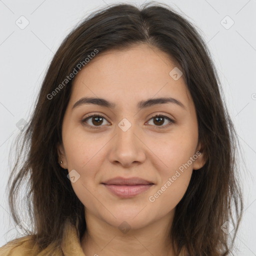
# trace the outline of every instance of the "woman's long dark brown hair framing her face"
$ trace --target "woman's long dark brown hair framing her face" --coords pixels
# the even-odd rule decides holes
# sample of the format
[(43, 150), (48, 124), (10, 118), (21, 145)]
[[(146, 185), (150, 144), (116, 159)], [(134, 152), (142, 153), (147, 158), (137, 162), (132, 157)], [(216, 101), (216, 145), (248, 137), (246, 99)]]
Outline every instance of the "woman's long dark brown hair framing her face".
[[(167, 53), (183, 72), (196, 109), (198, 142), (207, 159), (202, 168), (192, 172), (189, 186), (176, 205), (170, 233), (175, 255), (182, 251), (190, 256), (228, 255), (243, 208), (237, 135), (206, 43), (190, 22), (158, 2), (141, 8), (131, 4), (101, 8), (63, 40), (48, 67), (31, 119), (18, 137), (16, 161), (8, 180), (13, 219), (20, 222), (16, 197), (27, 178), (25, 200), (32, 221), (27, 234), (32, 234), (41, 249), (52, 242), (60, 244), (63, 223), (69, 218), (81, 238), (86, 229), (84, 206), (72, 189), (67, 169), (58, 163), (57, 145), (62, 143), (62, 119), (73, 78), (64, 85), (63, 81), (74, 70), (78, 72), (77, 65), (95, 49), (100, 55), (140, 43)], [(61, 90), (56, 91), (61, 83)], [(54, 90), (54, 96), (49, 97)], [(234, 226), (229, 234), (221, 230), (227, 220)]]

